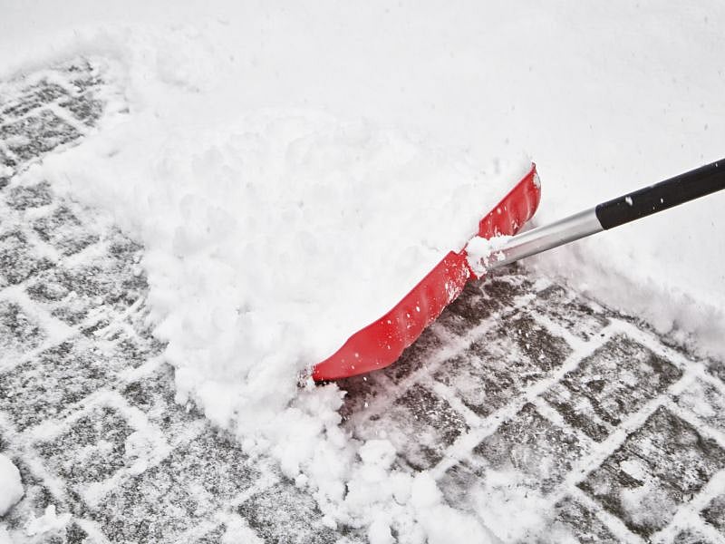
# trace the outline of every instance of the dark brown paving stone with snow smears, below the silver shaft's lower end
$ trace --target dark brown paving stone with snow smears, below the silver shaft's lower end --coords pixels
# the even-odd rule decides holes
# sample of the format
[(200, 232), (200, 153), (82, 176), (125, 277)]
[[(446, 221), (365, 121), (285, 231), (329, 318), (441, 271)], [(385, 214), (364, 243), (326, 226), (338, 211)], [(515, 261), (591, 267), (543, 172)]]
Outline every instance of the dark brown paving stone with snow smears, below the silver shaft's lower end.
[(445, 361), (434, 377), (485, 417), (561, 366), (571, 351), (564, 339), (523, 312)]

